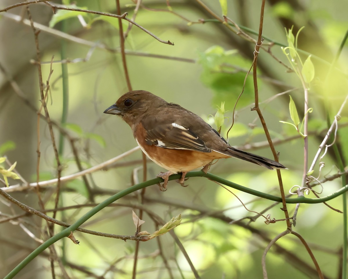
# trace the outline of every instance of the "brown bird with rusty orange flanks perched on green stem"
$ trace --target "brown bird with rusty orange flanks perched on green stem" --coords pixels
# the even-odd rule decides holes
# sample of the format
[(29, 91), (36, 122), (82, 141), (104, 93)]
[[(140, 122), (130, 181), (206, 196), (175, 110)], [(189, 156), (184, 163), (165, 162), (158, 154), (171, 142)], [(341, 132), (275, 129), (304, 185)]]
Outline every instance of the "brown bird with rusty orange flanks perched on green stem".
[(141, 150), (167, 170), (157, 175), (164, 180), (159, 183), (162, 191), (167, 190), (170, 175), (182, 173), (178, 182), (185, 187), (189, 171), (203, 167), (207, 173), (214, 159), (235, 157), (268, 169), (286, 169), (274, 160), (232, 147), (197, 114), (148, 91), (129, 91), (104, 113), (121, 116)]

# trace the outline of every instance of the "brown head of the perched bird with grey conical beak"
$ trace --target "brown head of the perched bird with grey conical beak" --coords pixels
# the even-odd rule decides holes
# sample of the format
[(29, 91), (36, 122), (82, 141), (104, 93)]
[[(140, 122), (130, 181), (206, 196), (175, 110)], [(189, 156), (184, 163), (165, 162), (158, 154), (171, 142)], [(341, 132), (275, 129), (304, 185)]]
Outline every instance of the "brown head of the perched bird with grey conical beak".
[(134, 90), (122, 95), (104, 113), (120, 115), (129, 126), (132, 126), (139, 117), (151, 111), (151, 108), (156, 108), (166, 103), (165, 100), (148, 91)]

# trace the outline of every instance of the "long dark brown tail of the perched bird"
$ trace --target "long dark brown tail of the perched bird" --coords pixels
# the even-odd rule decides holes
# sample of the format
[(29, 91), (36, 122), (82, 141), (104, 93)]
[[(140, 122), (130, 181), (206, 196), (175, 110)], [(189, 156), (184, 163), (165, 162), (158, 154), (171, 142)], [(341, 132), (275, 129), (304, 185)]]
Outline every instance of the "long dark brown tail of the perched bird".
[(226, 152), (224, 152), (226, 155), (231, 156), (231, 157), (235, 157), (235, 158), (239, 158), (254, 164), (258, 164), (260, 166), (263, 166), (265, 168), (268, 169), (275, 169), (275, 168), (279, 168), (279, 169), (287, 169), (286, 167), (284, 167), (282, 164), (279, 164), (278, 162), (256, 155), (256, 154), (252, 154), (240, 149), (236, 149), (233, 147), (230, 147), (229, 149), (226, 150)]

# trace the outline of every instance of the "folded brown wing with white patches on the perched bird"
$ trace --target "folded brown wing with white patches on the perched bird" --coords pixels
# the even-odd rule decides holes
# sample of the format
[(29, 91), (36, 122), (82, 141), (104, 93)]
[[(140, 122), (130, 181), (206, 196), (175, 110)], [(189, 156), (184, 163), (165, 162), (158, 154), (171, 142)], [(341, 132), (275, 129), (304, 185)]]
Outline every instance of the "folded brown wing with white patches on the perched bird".
[(145, 141), (148, 145), (170, 149), (211, 152), (211, 149), (207, 148), (204, 141), (197, 134), (175, 122), (156, 125), (151, 128), (144, 125), (144, 128), (147, 131)]

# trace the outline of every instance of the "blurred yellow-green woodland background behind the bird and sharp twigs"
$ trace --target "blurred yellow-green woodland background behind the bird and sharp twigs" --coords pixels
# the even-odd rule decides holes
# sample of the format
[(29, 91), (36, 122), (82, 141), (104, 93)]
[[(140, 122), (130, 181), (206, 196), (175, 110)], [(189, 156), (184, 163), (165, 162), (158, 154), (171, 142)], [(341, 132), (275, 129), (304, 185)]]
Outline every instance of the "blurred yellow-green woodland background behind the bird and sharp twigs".
[[(222, 1), (223, 2), (223, 1)], [(1, 1), (0, 9), (16, 1)], [(77, 7), (116, 14), (116, 2), (75, 1)], [(212, 116), (217, 106), (225, 102), (227, 110), (222, 136), (226, 137), (232, 123), (232, 111), (242, 91), (246, 72), (249, 70), (255, 44), (231, 32), (219, 22), (199, 23), (200, 19), (213, 19), (209, 11), (221, 18), (220, 2), (205, 1), (208, 10), (200, 1), (148, 1), (141, 2), (135, 22), (163, 40), (174, 42), (174, 46), (163, 44), (133, 26), (126, 38), (127, 66), (134, 90), (147, 90), (168, 102), (180, 104), (198, 114), (214, 126)], [(120, 1), (121, 13), (128, 12), (132, 18), (135, 3)], [(170, 5), (172, 11), (168, 8)], [(33, 21), (49, 26), (52, 9), (45, 3), (30, 5)], [(258, 32), (261, 1), (227, 1), (227, 15), (237, 24)], [(279, 161), (289, 168), (282, 171), (285, 193), (294, 185), (300, 185), (303, 173), (303, 140), (296, 136), (296, 130), (279, 120), (291, 122), (289, 113), (290, 94), (295, 100), (300, 119), (303, 118), (303, 89), (299, 78), (289, 73), (279, 61), (290, 66), (277, 43), (287, 45), (285, 29), (294, 25), (294, 34), (304, 26), (299, 35), (298, 47), (312, 54), (315, 79), (309, 92), (309, 107), (313, 108), (309, 121), (309, 163), (326, 133), (326, 116), (331, 119), (337, 113), (347, 95), (347, 49), (339, 56), (333, 71), (327, 76), (330, 63), (337, 53), (347, 30), (347, 2), (334, 1), (266, 1), (264, 10), (263, 36), (276, 42), (272, 47), (264, 41), (265, 49), (260, 50), (258, 59), (258, 86), (260, 108), (272, 138), (282, 144), (276, 145)], [(62, 11), (60, 11), (62, 12)], [(9, 16), (10, 14), (10, 16)], [(14, 79), (23, 91), (24, 97), (37, 109), (40, 106), (35, 43), (32, 29), (10, 18), (12, 14), (27, 18), (23, 6), (0, 13), (0, 147), (1, 156), (6, 155), (11, 163), (17, 161), (17, 171), (29, 182), (36, 181), (37, 163), (37, 114), (19, 97), (9, 80)], [(58, 14), (59, 16), (60, 14)], [(47, 107), (50, 118), (60, 123), (63, 110), (63, 83), (68, 82), (69, 97), (66, 123), (62, 127), (76, 145), (82, 168), (100, 164), (136, 146), (131, 129), (120, 118), (103, 114), (121, 95), (128, 91), (119, 52), (119, 30), (116, 18), (95, 20), (97, 15), (84, 14), (86, 27), (76, 15), (57, 22), (48, 33), (41, 29), (39, 44), (41, 61), (61, 60), (62, 46), (66, 47), (65, 58), (87, 61), (67, 63), (66, 76), (62, 77), (62, 64), (53, 64)], [(187, 20), (185, 20), (187, 19)], [(122, 21), (124, 31), (128, 22)], [(62, 30), (72, 35), (62, 39)], [(256, 39), (257, 35), (249, 33)], [(79, 43), (78, 38), (95, 46)], [(267, 50), (271, 53), (267, 53)], [(88, 54), (89, 53), (89, 54)], [(88, 54), (88, 55), (87, 55)], [(301, 54), (303, 61), (308, 54)], [(87, 55), (87, 56), (86, 56)], [(156, 56), (157, 57), (153, 57)], [(158, 56), (162, 55), (162, 56)], [(275, 59), (275, 58), (276, 59)], [(64, 58), (64, 57), (63, 57)], [(183, 59), (185, 59), (183, 61)], [(42, 65), (44, 83), (50, 70), (49, 63)], [(338, 74), (337, 74), (338, 73)], [(68, 79), (67, 79), (68, 77)], [(290, 93), (279, 94), (290, 90)], [(272, 96), (276, 98), (271, 98)], [(67, 99), (65, 99), (67, 100)], [(252, 74), (246, 80), (245, 90), (236, 107), (235, 125), (229, 133), (229, 143), (248, 150), (254, 143), (266, 141), (262, 125), (255, 111)], [(42, 112), (43, 113), (43, 112)], [(343, 109), (338, 143), (341, 155), (347, 159), (347, 107)], [(323, 131), (323, 133), (321, 133)], [(59, 131), (54, 129), (56, 142)], [(44, 120), (40, 121), (40, 181), (56, 177), (56, 161), (50, 140), (49, 129)], [(251, 145), (250, 145), (251, 144)], [(267, 144), (263, 148), (253, 147), (251, 152), (272, 158)], [(95, 203), (101, 202), (112, 193), (142, 181), (141, 152), (136, 151), (108, 171), (89, 174), (87, 180), (92, 188)], [(134, 162), (133, 162), (134, 161)], [(334, 153), (329, 150), (324, 175), (338, 172)], [(78, 171), (69, 138), (64, 139), (61, 155), (62, 175)], [(6, 167), (8, 168), (8, 167)], [(318, 166), (315, 177), (319, 175)], [(148, 162), (148, 179), (163, 171)], [(279, 194), (276, 172), (263, 169), (237, 159), (219, 160), (210, 169), (215, 175), (245, 187)], [(18, 181), (11, 180), (10, 184)], [(169, 221), (182, 214), (183, 221), (175, 228), (193, 266), (203, 279), (210, 278), (262, 278), (261, 257), (264, 248), (277, 234), (286, 229), (285, 221), (266, 225), (264, 218), (255, 222), (240, 201), (226, 189), (204, 178), (190, 178), (187, 188), (169, 182), (168, 190), (160, 192), (156, 185), (148, 187), (143, 204), (140, 193), (133, 193), (120, 199), (113, 206), (105, 208), (83, 227), (104, 233), (132, 235), (135, 228), (132, 209), (139, 212), (139, 205)], [(59, 207), (88, 204), (89, 198), (82, 179), (62, 183)], [(324, 184), (321, 196), (328, 195), (342, 187), (340, 179)], [(319, 187), (318, 187), (319, 188)], [(41, 190), (45, 208), (54, 208), (55, 185)], [(273, 202), (255, 198), (249, 194), (231, 189), (249, 210), (260, 212)], [(319, 190), (318, 190), (319, 191)], [(19, 201), (39, 209), (34, 190), (10, 193)], [(315, 197), (310, 194), (309, 197)], [(1, 218), (23, 213), (15, 205), (1, 198)], [(122, 206), (117, 206), (117, 203)], [(342, 210), (342, 198), (329, 202)], [(127, 205), (127, 206), (126, 206)], [(266, 214), (271, 218), (283, 219), (284, 213), (276, 205)], [(292, 216), (295, 205), (288, 205)], [(89, 207), (62, 210), (56, 218), (73, 223)], [(52, 215), (51, 213), (47, 213)], [(325, 278), (341, 277), (341, 249), (343, 245), (343, 215), (324, 204), (301, 204), (294, 230), (309, 243)], [(144, 213), (142, 230), (156, 231), (156, 222), (151, 214)], [(238, 220), (229, 224), (233, 220)], [(5, 276), (19, 261), (35, 249), (39, 243), (23, 231), (27, 227), (38, 239), (47, 239), (46, 223), (36, 216), (1, 222), (0, 219), (0, 275)], [(161, 226), (161, 225), (160, 225)], [(61, 230), (55, 225), (55, 232)], [(74, 233), (81, 242), (73, 244), (61, 240), (55, 244), (61, 265), (70, 278), (132, 278), (134, 264), (134, 241), (121, 241), (80, 232)], [(169, 234), (139, 245), (136, 278), (194, 278), (187, 260)], [(159, 248), (160, 247), (160, 248)], [(51, 278), (49, 251), (30, 263), (16, 278)], [(67, 278), (55, 262), (56, 278)], [(277, 241), (267, 255), (268, 278), (318, 278), (314, 265), (300, 241), (287, 235)], [(168, 271), (168, 267), (169, 270)], [(63, 273), (63, 275), (62, 275)], [(100, 277), (98, 277), (100, 276)], [(68, 278), (69, 278), (68, 277)]]

